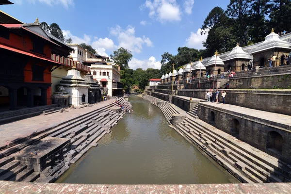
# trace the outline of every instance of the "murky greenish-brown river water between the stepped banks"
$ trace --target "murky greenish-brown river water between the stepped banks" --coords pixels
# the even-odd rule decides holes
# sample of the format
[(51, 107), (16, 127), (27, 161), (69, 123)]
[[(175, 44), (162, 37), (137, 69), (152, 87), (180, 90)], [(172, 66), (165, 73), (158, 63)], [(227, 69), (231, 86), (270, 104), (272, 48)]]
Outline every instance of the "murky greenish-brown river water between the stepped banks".
[(175, 129), (161, 110), (131, 95), (134, 113), (124, 116), (57, 183), (204, 184), (238, 182)]

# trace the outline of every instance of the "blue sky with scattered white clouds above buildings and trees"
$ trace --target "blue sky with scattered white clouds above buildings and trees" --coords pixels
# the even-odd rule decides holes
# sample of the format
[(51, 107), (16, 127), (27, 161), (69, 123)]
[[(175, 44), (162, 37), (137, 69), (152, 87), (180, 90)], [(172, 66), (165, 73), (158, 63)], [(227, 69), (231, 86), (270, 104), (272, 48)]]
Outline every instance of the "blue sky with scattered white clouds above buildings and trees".
[(22, 22), (59, 24), (73, 43), (91, 44), (99, 54), (131, 50), (130, 68), (160, 68), (161, 55), (178, 47), (203, 49), (205, 17), (229, 0), (11, 0), (0, 9)]

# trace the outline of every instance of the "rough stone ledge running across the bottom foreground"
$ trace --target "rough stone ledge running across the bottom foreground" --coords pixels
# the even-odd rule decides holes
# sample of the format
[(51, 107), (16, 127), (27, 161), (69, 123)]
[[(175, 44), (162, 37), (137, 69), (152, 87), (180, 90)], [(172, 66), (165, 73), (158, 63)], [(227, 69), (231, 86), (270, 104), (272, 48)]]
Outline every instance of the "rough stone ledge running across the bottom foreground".
[(290, 194), (291, 183), (192, 185), (92, 185), (0, 181), (5, 194)]

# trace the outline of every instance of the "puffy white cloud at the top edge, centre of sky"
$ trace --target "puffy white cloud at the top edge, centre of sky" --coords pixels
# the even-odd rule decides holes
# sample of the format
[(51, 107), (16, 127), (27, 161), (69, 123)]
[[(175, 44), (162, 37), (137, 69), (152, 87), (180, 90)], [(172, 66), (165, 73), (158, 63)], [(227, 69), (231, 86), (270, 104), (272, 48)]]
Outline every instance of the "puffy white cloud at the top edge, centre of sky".
[(176, 0), (146, 0), (141, 9), (148, 8), (151, 18), (157, 18), (160, 22), (180, 21), (181, 11)]

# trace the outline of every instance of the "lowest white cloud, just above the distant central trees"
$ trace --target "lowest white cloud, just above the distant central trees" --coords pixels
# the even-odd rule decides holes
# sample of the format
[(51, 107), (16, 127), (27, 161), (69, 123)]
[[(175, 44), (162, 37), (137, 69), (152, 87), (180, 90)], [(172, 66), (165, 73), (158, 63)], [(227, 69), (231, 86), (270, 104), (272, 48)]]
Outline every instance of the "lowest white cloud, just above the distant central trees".
[(136, 58), (132, 58), (132, 60), (129, 62), (129, 67), (134, 70), (137, 68), (142, 68), (145, 70), (147, 68), (160, 69), (161, 62), (156, 61), (155, 57), (150, 57), (149, 59), (146, 59), (146, 60), (138, 60)]

